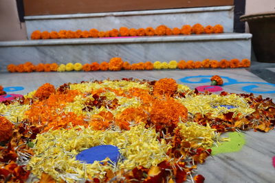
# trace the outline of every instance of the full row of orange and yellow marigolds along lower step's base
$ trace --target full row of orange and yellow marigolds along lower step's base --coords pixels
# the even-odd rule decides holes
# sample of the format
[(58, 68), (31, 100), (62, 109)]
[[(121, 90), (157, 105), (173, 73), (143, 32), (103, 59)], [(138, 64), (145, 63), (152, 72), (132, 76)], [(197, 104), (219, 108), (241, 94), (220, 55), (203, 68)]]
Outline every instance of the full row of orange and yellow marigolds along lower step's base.
[(32, 62), (25, 62), (25, 64), (9, 64), (7, 70), (11, 73), (30, 73), (30, 72), (64, 72), (64, 71), (121, 71), (121, 70), (153, 70), (153, 69), (226, 69), (226, 68), (241, 68), (249, 67), (250, 60), (248, 59), (232, 59), (232, 60), (210, 60), (206, 59), (203, 61), (193, 60), (171, 60), (170, 62), (139, 62), (130, 64), (129, 62), (124, 62), (122, 58), (111, 58), (109, 62), (92, 62), (91, 64), (81, 64), (79, 62), (73, 64), (71, 62), (67, 64), (37, 64), (34, 65)]

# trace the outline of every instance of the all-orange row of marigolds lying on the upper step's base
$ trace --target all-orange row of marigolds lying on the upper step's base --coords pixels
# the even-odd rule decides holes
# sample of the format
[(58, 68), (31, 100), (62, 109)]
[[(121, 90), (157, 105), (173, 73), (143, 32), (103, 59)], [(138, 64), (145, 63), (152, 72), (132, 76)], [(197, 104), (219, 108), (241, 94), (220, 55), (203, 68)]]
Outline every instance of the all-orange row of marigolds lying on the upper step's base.
[(188, 34), (217, 34), (223, 33), (222, 25), (208, 25), (203, 27), (203, 25), (197, 23), (193, 26), (183, 25), (181, 29), (174, 27), (170, 29), (166, 25), (159, 25), (155, 29), (153, 27), (147, 27), (146, 29), (134, 29), (127, 27), (120, 27), (120, 29), (111, 29), (109, 31), (98, 31), (98, 29), (90, 29), (89, 31), (77, 30), (76, 32), (72, 30), (61, 30), (59, 32), (40, 32), (36, 30), (32, 32), (31, 38), (33, 40), (38, 39), (58, 39), (58, 38), (105, 38), (105, 37), (118, 37), (118, 36), (170, 36), (170, 35), (188, 35)]

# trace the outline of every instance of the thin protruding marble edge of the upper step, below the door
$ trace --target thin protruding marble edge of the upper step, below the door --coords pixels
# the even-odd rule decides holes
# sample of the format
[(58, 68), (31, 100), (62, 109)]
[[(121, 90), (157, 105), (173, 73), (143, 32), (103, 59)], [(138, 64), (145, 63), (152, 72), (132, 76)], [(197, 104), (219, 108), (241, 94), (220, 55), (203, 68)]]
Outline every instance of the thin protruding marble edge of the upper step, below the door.
[(58, 15), (41, 15), (41, 16), (25, 16), (26, 21), (46, 20), (46, 19), (79, 19), (92, 18), (102, 16), (135, 16), (135, 15), (149, 15), (149, 14), (178, 14), (178, 13), (192, 13), (192, 12), (217, 12), (217, 11), (232, 11), (233, 5), (212, 6), (203, 8), (179, 8), (168, 10), (141, 10), (129, 12), (104, 12), (104, 13), (90, 13), (90, 14), (58, 14)]

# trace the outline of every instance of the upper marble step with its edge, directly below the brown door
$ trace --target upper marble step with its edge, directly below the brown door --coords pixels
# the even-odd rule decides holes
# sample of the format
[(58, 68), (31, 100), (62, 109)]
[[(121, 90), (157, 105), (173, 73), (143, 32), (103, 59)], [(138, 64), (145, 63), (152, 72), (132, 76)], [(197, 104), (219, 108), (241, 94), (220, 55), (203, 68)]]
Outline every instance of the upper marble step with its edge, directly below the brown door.
[(196, 23), (201, 23), (203, 26), (221, 24), (224, 32), (233, 32), (234, 6), (25, 16), (25, 23), (28, 38), (37, 29), (51, 32), (61, 29), (76, 31), (96, 28), (99, 31), (107, 31), (120, 27), (155, 28), (158, 25), (180, 28), (182, 25)]

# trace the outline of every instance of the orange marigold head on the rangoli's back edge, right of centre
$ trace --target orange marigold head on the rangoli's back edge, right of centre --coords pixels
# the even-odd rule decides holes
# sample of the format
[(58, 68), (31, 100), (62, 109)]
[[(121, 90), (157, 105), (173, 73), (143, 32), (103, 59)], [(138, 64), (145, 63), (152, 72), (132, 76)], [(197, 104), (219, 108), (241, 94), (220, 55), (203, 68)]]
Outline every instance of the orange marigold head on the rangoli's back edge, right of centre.
[(177, 91), (177, 82), (171, 78), (164, 78), (155, 82), (154, 95), (173, 95)]

